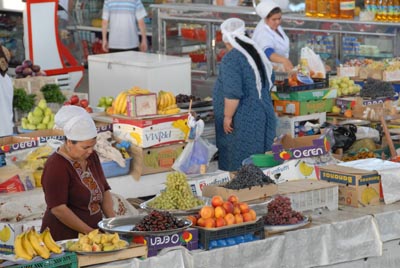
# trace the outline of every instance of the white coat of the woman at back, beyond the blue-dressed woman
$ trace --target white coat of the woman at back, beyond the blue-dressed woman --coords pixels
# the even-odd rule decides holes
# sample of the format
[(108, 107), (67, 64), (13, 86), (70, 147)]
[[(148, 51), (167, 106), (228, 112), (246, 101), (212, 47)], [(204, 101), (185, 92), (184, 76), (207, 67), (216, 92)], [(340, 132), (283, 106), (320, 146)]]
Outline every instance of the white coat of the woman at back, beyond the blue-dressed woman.
[(282, 36), (272, 30), (262, 19), (257, 24), (252, 39), (263, 51), (272, 48), (278, 55), (289, 58), (289, 38), (281, 26), (278, 26), (278, 31)]

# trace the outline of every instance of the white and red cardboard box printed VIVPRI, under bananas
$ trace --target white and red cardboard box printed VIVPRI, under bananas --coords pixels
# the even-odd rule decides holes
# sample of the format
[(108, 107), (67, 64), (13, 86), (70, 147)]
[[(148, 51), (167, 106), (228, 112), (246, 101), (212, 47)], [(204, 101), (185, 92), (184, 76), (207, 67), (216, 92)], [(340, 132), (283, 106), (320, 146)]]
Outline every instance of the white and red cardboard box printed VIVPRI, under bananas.
[(187, 117), (187, 113), (136, 118), (115, 116), (113, 132), (119, 139), (142, 148), (183, 142), (189, 132)]

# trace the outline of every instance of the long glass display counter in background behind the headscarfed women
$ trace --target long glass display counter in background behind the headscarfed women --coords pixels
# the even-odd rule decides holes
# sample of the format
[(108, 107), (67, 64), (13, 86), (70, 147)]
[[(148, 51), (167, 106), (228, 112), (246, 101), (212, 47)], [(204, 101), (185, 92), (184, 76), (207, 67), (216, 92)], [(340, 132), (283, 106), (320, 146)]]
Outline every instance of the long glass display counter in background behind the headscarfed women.
[[(260, 20), (251, 6), (154, 4), (151, 8), (153, 52), (191, 57), (192, 92), (199, 96), (210, 95), (225, 51), (220, 24), (227, 18), (239, 17), (246, 22), (251, 36)], [(289, 57), (294, 65), (299, 63), (301, 48), (305, 46), (320, 54), (333, 71), (349, 59), (400, 55), (400, 25), (396, 23), (318, 19), (284, 13), (282, 27), (291, 41)]]

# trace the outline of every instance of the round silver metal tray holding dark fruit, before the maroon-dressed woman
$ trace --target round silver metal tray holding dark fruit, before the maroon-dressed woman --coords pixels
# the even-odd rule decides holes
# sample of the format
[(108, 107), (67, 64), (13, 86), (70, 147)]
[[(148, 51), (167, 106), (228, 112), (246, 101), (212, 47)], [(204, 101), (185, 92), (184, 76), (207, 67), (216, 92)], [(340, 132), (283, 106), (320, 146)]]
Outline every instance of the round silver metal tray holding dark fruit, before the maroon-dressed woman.
[(105, 232), (118, 233), (123, 235), (131, 236), (160, 236), (160, 235), (170, 235), (179, 233), (190, 226), (192, 222), (187, 219), (181, 219), (184, 226), (176, 229), (162, 230), (162, 231), (135, 231), (134, 228), (136, 224), (139, 224), (143, 219), (143, 216), (125, 216), (125, 217), (115, 217), (108, 218), (100, 221), (98, 226)]

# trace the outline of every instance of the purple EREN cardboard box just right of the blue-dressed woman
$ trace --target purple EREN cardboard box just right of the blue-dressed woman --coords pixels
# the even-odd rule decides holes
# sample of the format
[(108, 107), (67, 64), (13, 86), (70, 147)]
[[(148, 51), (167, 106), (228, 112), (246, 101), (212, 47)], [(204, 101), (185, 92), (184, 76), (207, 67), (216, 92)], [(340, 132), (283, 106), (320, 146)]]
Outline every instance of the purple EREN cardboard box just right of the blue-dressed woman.
[(283, 135), (272, 144), (272, 153), (278, 161), (320, 156), (327, 154), (330, 150), (330, 137), (328, 135), (310, 135), (297, 138)]

